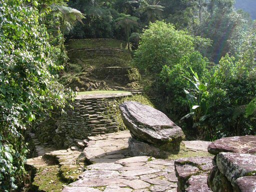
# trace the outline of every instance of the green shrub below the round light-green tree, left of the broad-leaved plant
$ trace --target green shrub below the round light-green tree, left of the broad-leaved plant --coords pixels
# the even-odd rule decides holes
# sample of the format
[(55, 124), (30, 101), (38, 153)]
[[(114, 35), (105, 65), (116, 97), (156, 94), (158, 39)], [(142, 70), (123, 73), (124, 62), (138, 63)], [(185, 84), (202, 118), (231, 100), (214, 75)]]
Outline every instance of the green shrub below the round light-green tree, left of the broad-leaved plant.
[[(163, 66), (159, 74), (158, 92), (161, 93), (163, 100), (168, 102), (164, 103), (165, 110), (172, 114), (172, 117), (179, 118), (187, 112), (187, 100), (183, 89), (190, 87), (187, 78), (193, 78), (193, 70), (198, 71), (198, 75), (207, 76), (206, 66), (208, 61), (203, 58), (199, 52), (193, 52), (183, 56), (180, 62), (174, 66)], [(204, 78), (202, 80), (204, 80)]]

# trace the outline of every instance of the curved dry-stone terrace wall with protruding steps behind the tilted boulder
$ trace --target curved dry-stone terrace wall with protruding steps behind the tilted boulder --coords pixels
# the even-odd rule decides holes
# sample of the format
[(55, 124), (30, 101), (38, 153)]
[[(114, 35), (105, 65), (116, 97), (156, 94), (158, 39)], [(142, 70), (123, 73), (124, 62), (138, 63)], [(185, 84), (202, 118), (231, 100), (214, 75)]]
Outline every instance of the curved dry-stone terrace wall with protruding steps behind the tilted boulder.
[(54, 124), (52, 120), (40, 123), (35, 129), (36, 134), (41, 143), (52, 142), (58, 147), (68, 147), (89, 135), (124, 130), (118, 106), (125, 100), (152, 105), (141, 93), (79, 95), (72, 104), (73, 110), (67, 110), (65, 115), (57, 117)]

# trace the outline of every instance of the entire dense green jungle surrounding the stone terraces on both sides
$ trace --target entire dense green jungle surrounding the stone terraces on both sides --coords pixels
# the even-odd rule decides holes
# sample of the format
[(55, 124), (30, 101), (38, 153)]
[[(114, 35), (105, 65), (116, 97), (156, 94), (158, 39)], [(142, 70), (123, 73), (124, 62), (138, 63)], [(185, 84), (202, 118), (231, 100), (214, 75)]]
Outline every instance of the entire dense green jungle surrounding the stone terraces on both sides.
[(58, 83), (65, 39), (129, 41), (145, 89), (188, 138), (256, 134), (256, 25), (234, 3), (0, 0), (0, 191), (25, 182), (26, 128), (74, 98)]

